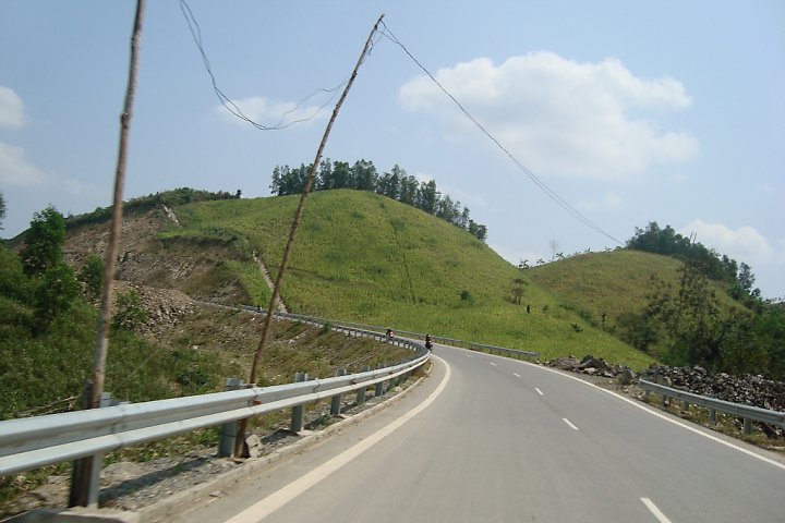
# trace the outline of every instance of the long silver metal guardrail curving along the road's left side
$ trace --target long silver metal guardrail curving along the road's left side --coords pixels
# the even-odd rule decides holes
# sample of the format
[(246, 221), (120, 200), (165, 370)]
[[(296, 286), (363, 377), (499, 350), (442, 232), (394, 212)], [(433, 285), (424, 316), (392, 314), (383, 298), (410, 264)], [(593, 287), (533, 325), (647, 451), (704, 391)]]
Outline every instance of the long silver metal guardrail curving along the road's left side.
[(0, 422), (0, 475), (335, 397), (413, 372), (427, 354), (360, 374)]

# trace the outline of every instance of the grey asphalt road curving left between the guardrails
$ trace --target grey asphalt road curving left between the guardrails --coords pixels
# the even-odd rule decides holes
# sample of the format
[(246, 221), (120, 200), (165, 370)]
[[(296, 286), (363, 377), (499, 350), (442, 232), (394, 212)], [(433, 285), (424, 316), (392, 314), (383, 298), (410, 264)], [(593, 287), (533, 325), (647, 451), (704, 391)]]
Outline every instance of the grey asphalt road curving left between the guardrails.
[(544, 367), (434, 354), (401, 401), (178, 521), (785, 521), (778, 457)]

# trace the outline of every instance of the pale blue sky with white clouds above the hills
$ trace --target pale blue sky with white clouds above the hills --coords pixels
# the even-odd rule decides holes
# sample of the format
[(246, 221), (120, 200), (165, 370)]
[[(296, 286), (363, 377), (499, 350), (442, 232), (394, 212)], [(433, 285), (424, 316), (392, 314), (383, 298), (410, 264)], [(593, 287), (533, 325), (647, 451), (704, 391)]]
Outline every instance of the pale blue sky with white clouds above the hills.
[[(220, 88), (275, 124), (340, 84), (379, 14), (528, 169), (625, 241), (671, 224), (785, 296), (785, 3), (189, 0)], [(111, 200), (134, 1), (0, 3), (0, 191), (13, 236), (48, 204)], [(316, 96), (286, 118), (312, 114)], [(144, 22), (125, 196), (191, 186), (269, 195), (312, 161), (333, 105), (257, 131), (224, 111), (177, 0)], [(616, 244), (552, 199), (387, 38), (326, 155), (395, 163), (460, 200), (512, 263)], [(306, 210), (306, 219), (309, 219)], [(317, 219), (317, 217), (311, 217)]]

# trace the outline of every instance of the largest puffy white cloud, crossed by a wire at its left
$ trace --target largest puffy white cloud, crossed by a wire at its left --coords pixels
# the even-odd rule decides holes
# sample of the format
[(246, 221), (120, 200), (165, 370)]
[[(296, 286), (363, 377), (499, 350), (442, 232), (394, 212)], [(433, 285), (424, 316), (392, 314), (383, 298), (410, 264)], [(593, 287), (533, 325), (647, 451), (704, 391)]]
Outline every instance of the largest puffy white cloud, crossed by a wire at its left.
[[(688, 133), (652, 122), (659, 111), (692, 105), (684, 86), (638, 78), (615, 59), (579, 63), (534, 52), (500, 65), (479, 58), (435, 76), (535, 173), (618, 180), (699, 150)], [(485, 139), (427, 76), (404, 84), (399, 97), (411, 111), (436, 114), (448, 139)]]

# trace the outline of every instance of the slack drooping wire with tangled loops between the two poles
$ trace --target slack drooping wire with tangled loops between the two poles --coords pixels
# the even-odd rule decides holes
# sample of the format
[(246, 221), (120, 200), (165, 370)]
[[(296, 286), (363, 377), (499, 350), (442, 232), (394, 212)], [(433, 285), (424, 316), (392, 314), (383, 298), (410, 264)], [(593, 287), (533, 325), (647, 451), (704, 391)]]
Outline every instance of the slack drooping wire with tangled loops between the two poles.
[[(218, 100), (220, 100), (221, 105), (226, 110), (228, 110), (230, 113), (232, 113), (234, 117), (239, 118), (240, 120), (243, 120), (254, 127), (258, 129), (259, 131), (279, 131), (282, 129), (287, 129), (291, 125), (294, 125), (295, 123), (302, 123), (307, 122), (309, 120), (313, 120), (316, 118), (316, 115), (322, 112), (322, 110), (330, 105), (336, 96), (338, 96), (338, 93), (340, 93), (341, 87), (343, 87), (347, 82), (349, 82), (349, 77), (347, 76), (340, 84), (336, 85), (331, 88), (321, 88), (316, 89), (310, 95), (307, 95), (302, 100), (298, 101), (298, 104), (289, 109), (288, 111), (283, 112), (280, 117), (280, 120), (275, 125), (264, 125), (262, 123), (258, 123), (247, 115), (238, 107), (237, 104), (234, 104), (231, 98), (229, 98), (221, 89), (218, 87), (218, 81), (216, 80), (215, 73), (213, 72), (213, 68), (210, 65), (209, 59), (207, 58), (207, 53), (204, 49), (204, 44), (202, 42), (202, 27), (200, 26), (198, 21), (196, 20), (196, 16), (194, 16), (193, 11), (191, 11), (191, 7), (188, 4), (185, 0), (180, 0), (180, 11), (183, 13), (183, 17), (185, 19), (185, 22), (188, 23), (189, 31), (191, 32), (191, 36), (196, 44), (196, 48), (198, 49), (200, 54), (202, 56), (202, 62), (204, 63), (205, 71), (210, 77), (210, 82), (213, 83), (213, 90), (215, 92), (216, 96), (218, 97)], [(322, 106), (319, 106), (315, 111), (313, 111), (309, 117), (305, 118), (299, 118), (295, 120), (292, 120), (288, 123), (283, 123), (286, 120), (286, 117), (298, 110), (303, 104), (305, 104), (307, 100), (313, 98), (319, 93), (325, 94), (331, 94), (329, 99), (325, 101)]]

